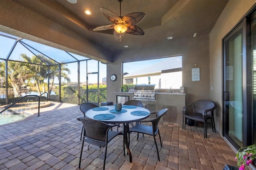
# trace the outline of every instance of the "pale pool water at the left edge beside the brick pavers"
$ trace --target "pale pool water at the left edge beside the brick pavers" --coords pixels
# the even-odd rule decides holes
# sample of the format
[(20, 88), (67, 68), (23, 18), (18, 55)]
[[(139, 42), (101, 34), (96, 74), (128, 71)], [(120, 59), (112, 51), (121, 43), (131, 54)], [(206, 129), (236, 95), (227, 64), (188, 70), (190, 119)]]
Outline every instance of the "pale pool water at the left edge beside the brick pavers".
[(12, 115), (0, 115), (0, 125), (7, 123), (12, 123), (16, 121), (24, 120), (26, 117), (29, 117), (28, 114), (12, 114)]

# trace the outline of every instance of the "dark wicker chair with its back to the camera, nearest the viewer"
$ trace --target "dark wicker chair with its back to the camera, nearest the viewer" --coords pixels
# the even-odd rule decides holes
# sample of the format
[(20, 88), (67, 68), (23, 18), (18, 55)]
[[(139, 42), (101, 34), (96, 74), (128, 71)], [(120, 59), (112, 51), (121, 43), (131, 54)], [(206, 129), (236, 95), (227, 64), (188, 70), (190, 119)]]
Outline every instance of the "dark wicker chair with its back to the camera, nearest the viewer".
[[(116, 132), (116, 131), (110, 130), (112, 127), (115, 127), (116, 125), (110, 125), (110, 124), (103, 123), (101, 121), (97, 121), (87, 117), (78, 117), (77, 120), (81, 121), (84, 125), (84, 137), (82, 142), (78, 168), (80, 168), (81, 166), (81, 158), (82, 158), (82, 152), (84, 148), (84, 142), (87, 142), (89, 143), (89, 145), (94, 144), (96, 146), (105, 147), (104, 164), (103, 164), (103, 170), (104, 170), (105, 164), (106, 164), (108, 142), (110, 142), (110, 140), (112, 140), (114, 137), (118, 135), (123, 135), (123, 132)], [(89, 145), (88, 145), (88, 150), (89, 150)], [(123, 135), (123, 148), (124, 148), (124, 135)], [(125, 156), (125, 152), (124, 152), (124, 156)]]

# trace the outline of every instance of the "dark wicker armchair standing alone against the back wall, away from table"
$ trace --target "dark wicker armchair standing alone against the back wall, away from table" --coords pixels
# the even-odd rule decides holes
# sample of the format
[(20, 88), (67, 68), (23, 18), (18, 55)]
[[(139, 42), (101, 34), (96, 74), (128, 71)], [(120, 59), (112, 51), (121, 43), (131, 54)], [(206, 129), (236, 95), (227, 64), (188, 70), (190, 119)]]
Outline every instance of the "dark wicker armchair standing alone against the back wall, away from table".
[(212, 132), (216, 132), (213, 111), (217, 108), (216, 103), (210, 100), (198, 100), (182, 108), (182, 129), (186, 129), (186, 118), (193, 121), (204, 122), (204, 138), (207, 138), (207, 120), (212, 121)]

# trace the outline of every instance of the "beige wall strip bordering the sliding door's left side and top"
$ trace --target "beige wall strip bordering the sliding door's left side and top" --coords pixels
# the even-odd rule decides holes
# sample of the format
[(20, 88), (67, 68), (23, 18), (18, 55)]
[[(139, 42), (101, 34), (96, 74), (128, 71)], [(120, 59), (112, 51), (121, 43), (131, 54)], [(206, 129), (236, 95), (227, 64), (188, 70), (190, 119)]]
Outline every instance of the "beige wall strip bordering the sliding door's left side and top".
[(222, 134), (222, 38), (234, 28), (256, 0), (230, 0), (210, 32), (210, 99), (218, 105), (215, 115), (216, 130)]

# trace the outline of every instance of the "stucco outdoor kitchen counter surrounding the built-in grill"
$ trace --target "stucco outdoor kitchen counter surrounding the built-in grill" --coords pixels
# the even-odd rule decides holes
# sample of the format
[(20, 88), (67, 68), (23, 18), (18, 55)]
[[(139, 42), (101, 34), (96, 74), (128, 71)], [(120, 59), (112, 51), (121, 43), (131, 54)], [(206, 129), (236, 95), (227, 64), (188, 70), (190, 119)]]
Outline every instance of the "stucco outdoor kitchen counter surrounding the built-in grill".
[[(163, 116), (163, 121), (174, 122), (182, 124), (182, 107), (185, 106), (186, 93), (159, 93), (156, 92), (156, 100), (139, 100), (143, 103), (143, 107), (146, 107), (151, 112), (158, 111), (164, 108), (168, 109), (168, 112)], [(126, 97), (126, 99), (132, 100), (133, 92), (114, 92), (113, 102), (118, 102), (118, 97)]]

